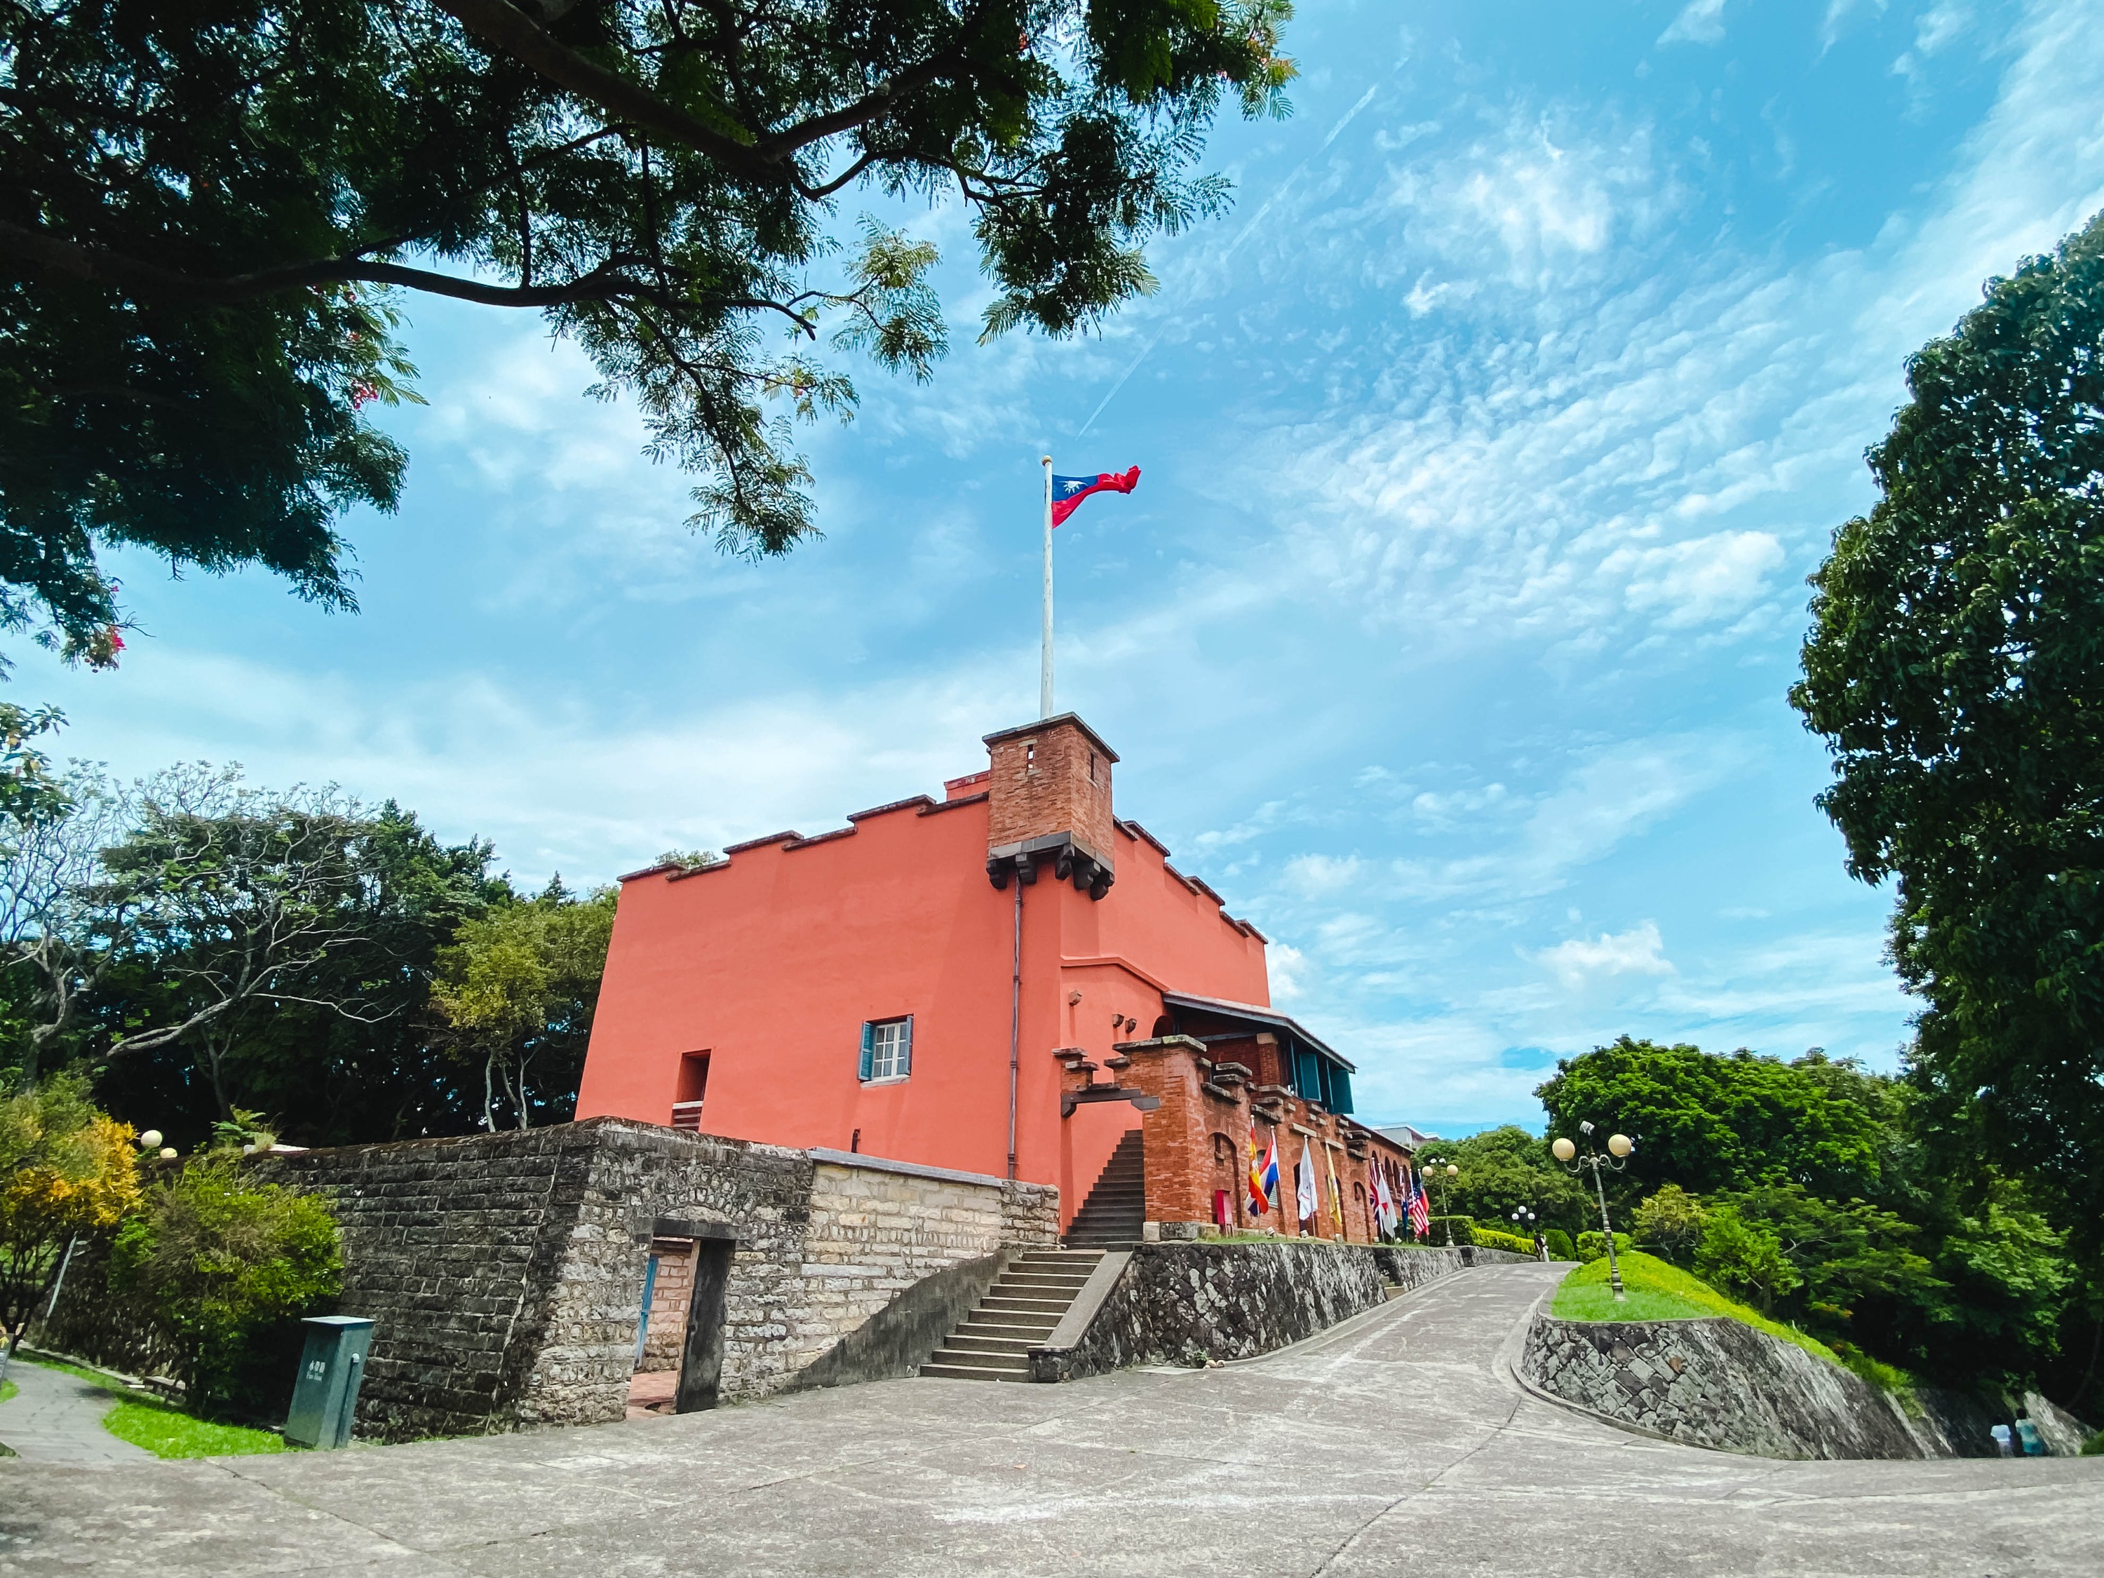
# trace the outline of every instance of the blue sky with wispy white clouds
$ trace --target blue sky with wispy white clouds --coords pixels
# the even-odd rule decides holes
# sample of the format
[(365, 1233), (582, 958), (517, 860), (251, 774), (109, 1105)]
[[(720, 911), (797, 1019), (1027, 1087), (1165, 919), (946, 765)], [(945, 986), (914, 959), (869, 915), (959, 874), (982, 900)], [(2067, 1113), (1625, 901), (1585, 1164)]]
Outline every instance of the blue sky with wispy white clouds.
[[(2104, 208), (2104, 6), (1304, 4), (1235, 210), (1098, 339), (861, 375), (827, 537), (747, 566), (520, 316), (410, 301), (429, 406), (364, 610), (122, 560), (114, 675), (19, 654), (63, 749), (398, 797), (524, 879), (802, 827), (1035, 713), (1037, 454), (1140, 465), (1060, 528), (1060, 694), (1119, 808), (1273, 938), (1361, 1117), (1538, 1126), (1628, 1031), (1891, 1067), (1885, 896), (1784, 705), (1906, 353)], [(844, 208), (852, 221), (856, 206)]]

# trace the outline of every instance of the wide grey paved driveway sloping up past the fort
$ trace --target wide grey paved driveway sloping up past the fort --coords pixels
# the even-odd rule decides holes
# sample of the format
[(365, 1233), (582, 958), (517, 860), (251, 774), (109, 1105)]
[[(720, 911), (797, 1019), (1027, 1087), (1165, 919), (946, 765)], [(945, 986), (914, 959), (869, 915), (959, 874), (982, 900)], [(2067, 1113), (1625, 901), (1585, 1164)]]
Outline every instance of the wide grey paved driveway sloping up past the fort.
[(1500, 1347), (1555, 1275), (1471, 1271), (1225, 1370), (892, 1380), (105, 1473), (0, 1462), (0, 1574), (2104, 1572), (2104, 1458), (1774, 1462), (1528, 1397)]

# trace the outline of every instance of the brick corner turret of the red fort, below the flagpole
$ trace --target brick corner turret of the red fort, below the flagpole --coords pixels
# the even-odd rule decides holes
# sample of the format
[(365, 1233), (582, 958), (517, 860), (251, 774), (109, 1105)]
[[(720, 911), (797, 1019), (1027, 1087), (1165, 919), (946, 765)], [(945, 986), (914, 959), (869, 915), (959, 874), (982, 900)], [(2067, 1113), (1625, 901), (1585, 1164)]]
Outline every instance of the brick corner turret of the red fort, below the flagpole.
[(987, 877), (1037, 882), (1046, 867), (1111, 890), (1111, 764), (1117, 751), (1073, 713), (987, 734)]

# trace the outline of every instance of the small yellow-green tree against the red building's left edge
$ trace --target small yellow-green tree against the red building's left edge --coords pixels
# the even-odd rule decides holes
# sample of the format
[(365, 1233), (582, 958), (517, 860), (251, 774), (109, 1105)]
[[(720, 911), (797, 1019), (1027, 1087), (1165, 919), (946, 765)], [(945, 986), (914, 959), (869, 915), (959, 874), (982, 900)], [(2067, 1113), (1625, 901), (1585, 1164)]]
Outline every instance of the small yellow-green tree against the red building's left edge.
[(467, 1060), (482, 1060), (484, 1128), (497, 1128), (499, 1081), (518, 1128), (532, 1124), (534, 1058), (543, 1058), (543, 1079), (566, 1090), (574, 1109), (612, 930), (612, 888), (576, 903), (555, 877), (532, 903), (463, 922), (440, 949), (431, 1004), (450, 1046)]

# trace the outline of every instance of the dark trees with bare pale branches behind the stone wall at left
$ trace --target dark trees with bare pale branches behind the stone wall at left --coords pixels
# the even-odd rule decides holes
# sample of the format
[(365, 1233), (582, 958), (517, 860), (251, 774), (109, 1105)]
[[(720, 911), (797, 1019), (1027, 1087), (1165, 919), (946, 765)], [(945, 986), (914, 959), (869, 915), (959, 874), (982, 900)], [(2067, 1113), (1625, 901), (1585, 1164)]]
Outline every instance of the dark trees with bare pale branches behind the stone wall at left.
[[(181, 1149), (236, 1105), (297, 1145), (476, 1128), (480, 1081), (461, 1079), (427, 1008), (438, 949), (513, 901), (486, 844), (440, 844), (391, 802), (185, 770), (145, 785), (114, 850), (93, 898), (151, 903), (76, 1033), (107, 1060), (105, 1100)], [(568, 1115), (572, 1096), (558, 1084), (539, 1111)]]

